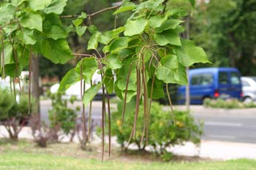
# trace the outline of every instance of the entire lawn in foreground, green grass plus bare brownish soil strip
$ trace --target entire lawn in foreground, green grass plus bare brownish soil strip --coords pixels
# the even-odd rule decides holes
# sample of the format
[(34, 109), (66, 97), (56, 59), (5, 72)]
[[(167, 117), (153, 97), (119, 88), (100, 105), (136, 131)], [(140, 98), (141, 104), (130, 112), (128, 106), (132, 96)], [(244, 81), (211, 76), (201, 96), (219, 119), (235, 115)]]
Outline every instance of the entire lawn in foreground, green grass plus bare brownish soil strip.
[[(115, 152), (115, 151), (114, 151)], [(55, 144), (46, 149), (31, 142), (2, 144), (0, 142), (0, 170), (77, 170), (77, 169), (207, 169), (256, 170), (256, 160), (171, 162), (147, 161), (115, 154), (102, 163), (99, 152), (86, 152), (78, 144)], [(107, 154), (106, 154), (107, 157)]]

